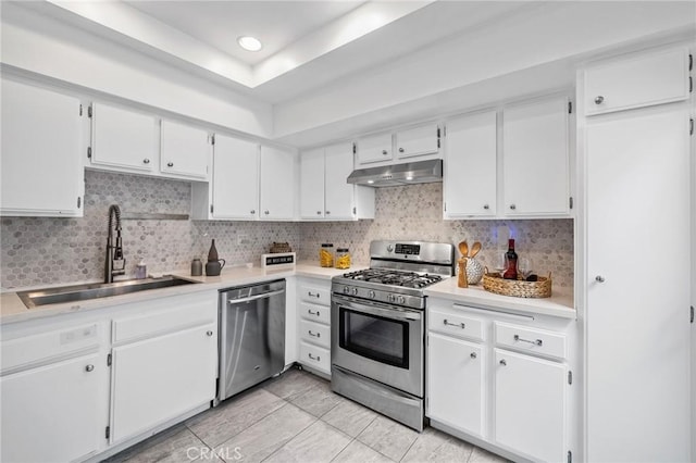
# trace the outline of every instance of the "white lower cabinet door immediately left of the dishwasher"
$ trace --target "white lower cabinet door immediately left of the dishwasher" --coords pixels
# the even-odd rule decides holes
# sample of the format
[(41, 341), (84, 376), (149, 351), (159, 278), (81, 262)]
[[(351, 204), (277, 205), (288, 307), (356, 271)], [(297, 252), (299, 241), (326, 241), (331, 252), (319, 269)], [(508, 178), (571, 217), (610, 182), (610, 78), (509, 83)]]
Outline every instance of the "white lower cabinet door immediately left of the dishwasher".
[(210, 324), (113, 349), (112, 442), (214, 398), (215, 335)]

